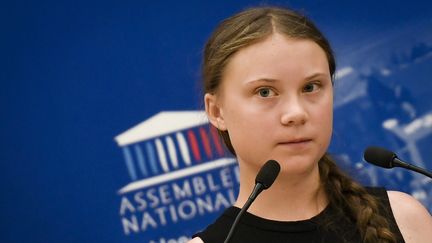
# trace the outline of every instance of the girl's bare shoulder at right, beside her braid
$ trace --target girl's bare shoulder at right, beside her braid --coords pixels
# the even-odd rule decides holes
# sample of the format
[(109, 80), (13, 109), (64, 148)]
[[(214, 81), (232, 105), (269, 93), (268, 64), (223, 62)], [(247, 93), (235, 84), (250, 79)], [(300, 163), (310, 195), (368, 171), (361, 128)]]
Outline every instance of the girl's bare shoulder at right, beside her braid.
[(407, 243), (430, 242), (432, 216), (423, 205), (409, 194), (388, 191), (396, 223)]

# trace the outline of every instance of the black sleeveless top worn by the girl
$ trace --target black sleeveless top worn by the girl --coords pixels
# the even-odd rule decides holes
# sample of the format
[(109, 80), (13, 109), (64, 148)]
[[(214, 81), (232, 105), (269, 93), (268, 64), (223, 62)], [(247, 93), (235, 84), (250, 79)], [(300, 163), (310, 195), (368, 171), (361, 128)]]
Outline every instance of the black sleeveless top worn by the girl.
[[(398, 243), (405, 242), (391, 211), (387, 191), (383, 188), (367, 188), (381, 204), (380, 212), (388, 219), (390, 229)], [(240, 208), (230, 207), (204, 231), (193, 237), (200, 237), (204, 243), (223, 243)], [(237, 225), (230, 242), (235, 243), (339, 243), (362, 242), (356, 224), (328, 205), (315, 217), (301, 221), (274, 221), (264, 219), (248, 212)], [(329, 227), (329, 223), (336, 227)]]

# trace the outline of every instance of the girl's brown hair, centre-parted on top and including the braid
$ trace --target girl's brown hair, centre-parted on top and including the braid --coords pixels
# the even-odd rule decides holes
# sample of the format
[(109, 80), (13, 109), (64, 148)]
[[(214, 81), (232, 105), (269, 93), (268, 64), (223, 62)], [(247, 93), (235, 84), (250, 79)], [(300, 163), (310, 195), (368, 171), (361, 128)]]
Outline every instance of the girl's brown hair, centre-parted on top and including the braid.
[[(260, 42), (273, 33), (317, 43), (325, 52), (332, 77), (335, 58), (329, 42), (304, 15), (280, 7), (257, 7), (224, 20), (209, 38), (202, 67), (204, 92), (218, 92), (224, 69), (234, 53)], [(219, 131), (227, 148), (235, 155), (228, 131)], [(395, 242), (386, 219), (380, 215), (378, 201), (345, 175), (327, 154), (319, 162), (320, 180), (330, 203), (357, 223), (364, 242)], [(331, 226), (329, 226), (331, 227)]]

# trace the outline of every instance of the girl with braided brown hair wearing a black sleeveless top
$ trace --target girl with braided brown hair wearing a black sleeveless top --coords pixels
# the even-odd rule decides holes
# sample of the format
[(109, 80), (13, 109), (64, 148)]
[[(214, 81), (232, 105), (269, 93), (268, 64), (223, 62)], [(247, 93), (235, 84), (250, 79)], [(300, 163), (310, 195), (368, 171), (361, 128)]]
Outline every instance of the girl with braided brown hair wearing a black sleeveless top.
[(252, 8), (223, 21), (204, 53), (208, 118), (240, 167), (235, 205), (192, 243), (223, 242), (269, 159), (281, 165), (231, 242), (431, 242), (432, 218), (411, 196), (365, 189), (326, 154), (335, 60), (294, 11)]

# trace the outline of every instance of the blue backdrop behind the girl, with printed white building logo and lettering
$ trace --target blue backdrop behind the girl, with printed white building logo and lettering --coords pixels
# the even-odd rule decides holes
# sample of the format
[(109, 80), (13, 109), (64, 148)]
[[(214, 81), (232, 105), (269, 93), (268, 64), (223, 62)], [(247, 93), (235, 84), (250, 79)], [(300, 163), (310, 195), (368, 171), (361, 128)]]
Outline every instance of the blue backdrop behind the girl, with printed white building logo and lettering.
[[(200, 58), (219, 21), (262, 3), (2, 3), (0, 241), (184, 242), (220, 213), (237, 170), (193, 112)], [(333, 43), (341, 166), (432, 211), (430, 180), (362, 161), (381, 145), (432, 169), (432, 3), (264, 3)]]

